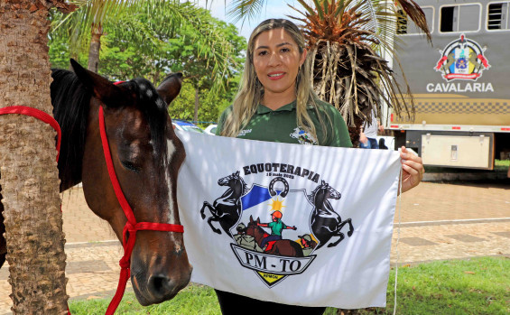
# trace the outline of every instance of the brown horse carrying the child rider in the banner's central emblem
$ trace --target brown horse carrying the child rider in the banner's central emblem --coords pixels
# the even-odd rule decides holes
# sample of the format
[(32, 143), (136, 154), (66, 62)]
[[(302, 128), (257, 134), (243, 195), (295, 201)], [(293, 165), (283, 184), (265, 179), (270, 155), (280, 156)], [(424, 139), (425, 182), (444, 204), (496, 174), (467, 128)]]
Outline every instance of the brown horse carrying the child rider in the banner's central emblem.
[[(267, 236), (264, 229), (259, 227), (260, 218), (254, 218), (250, 216), (250, 222), (248, 222), (248, 226), (246, 227), (246, 235), (254, 236), (255, 242), (258, 246), (261, 246), (264, 237)], [(262, 246), (261, 246), (262, 247)], [(304, 257), (302, 254), (302, 247), (297, 242), (294, 242), (290, 239), (280, 239), (274, 241), (274, 245), (270, 247), (269, 250), (266, 250), (264, 254), (270, 255), (282, 255), (288, 257)]]

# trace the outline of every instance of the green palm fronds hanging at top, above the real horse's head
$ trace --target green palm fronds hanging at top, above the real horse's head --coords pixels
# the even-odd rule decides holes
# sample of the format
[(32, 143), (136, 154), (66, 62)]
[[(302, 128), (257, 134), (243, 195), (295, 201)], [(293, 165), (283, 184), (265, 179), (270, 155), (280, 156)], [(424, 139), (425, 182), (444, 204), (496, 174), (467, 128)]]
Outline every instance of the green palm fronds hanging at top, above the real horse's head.
[[(131, 32), (131, 42), (134, 45), (146, 45), (152, 43), (157, 45), (160, 39), (151, 34), (155, 29), (150, 23), (159, 23), (158, 29), (166, 27), (168, 32), (175, 32), (183, 25), (190, 25), (197, 32), (202, 34), (204, 48), (212, 48), (209, 63), (214, 65), (212, 73), (215, 78), (213, 88), (224, 87), (224, 74), (228, 71), (229, 55), (232, 51), (231, 44), (221, 37), (221, 32), (216, 32), (210, 27), (208, 18), (199, 12), (199, 8), (190, 3), (181, 3), (179, 0), (72, 0), (71, 3), (78, 5), (79, 9), (69, 14), (63, 22), (55, 25), (55, 28), (63, 27), (72, 34), (71, 49), (79, 49), (84, 42), (89, 40), (88, 69), (97, 72), (99, 63), (99, 50), (101, 37), (106, 27), (125, 27), (133, 31), (136, 26), (133, 24), (119, 24), (119, 20), (135, 22), (133, 16), (145, 14), (151, 19), (147, 20), (144, 28), (148, 31), (144, 34)], [(131, 18), (130, 18), (131, 17)], [(84, 34), (90, 33), (90, 37)], [(72, 55), (73, 53), (71, 53)], [(74, 51), (76, 55), (76, 51)]]

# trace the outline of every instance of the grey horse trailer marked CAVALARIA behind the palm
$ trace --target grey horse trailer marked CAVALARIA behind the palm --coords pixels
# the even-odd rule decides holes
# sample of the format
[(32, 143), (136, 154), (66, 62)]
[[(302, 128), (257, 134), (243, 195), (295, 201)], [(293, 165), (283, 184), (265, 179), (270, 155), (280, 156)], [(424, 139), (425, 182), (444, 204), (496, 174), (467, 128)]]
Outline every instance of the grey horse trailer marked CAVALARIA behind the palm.
[(492, 170), (510, 153), (510, 1), (416, 2), (432, 45), (412, 21), (398, 19), (398, 62), (414, 111), (386, 113), (386, 129), (394, 131), (395, 148), (412, 148), (425, 165)]

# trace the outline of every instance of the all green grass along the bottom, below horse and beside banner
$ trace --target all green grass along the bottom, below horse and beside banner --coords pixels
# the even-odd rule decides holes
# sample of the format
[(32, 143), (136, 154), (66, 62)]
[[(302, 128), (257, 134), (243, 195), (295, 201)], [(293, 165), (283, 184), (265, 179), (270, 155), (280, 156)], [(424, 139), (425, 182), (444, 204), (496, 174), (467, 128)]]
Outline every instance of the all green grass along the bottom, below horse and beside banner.
[[(109, 300), (70, 301), (75, 314), (104, 314)], [(344, 310), (345, 314), (392, 314), (394, 270), (390, 273), (387, 307)], [(483, 257), (403, 266), (398, 269), (397, 314), (509, 314), (510, 259)], [(327, 315), (340, 314), (329, 308)], [(220, 314), (212, 289), (193, 284), (172, 301), (142, 307), (127, 293), (116, 314)]]

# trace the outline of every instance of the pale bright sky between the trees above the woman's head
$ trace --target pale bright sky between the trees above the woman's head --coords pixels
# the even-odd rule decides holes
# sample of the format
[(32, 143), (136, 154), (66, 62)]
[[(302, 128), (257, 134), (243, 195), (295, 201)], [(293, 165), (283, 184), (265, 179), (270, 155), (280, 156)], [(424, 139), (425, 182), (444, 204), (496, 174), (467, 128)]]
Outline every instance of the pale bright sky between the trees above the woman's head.
[[(207, 8), (210, 9), (212, 16), (223, 20), (227, 23), (233, 23), (227, 17), (227, 11), (225, 9), (225, 3), (227, 2), (227, 8), (232, 3), (232, 0), (209, 0), (207, 3)], [(292, 10), (289, 5), (293, 5), (297, 8), (301, 8), (301, 5), (298, 4), (295, 0), (265, 0), (264, 8), (255, 19), (249, 21), (246, 18), (245, 23), (242, 21), (235, 23), (239, 33), (246, 38), (246, 40), (250, 37), (250, 33), (255, 29), (255, 26), (261, 23), (262, 21), (269, 18), (288, 18), (286, 14), (299, 17), (300, 14), (296, 11)], [(201, 7), (206, 7), (206, 0), (199, 0), (199, 5)]]

